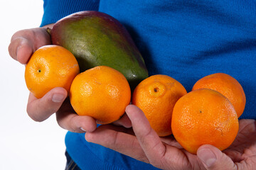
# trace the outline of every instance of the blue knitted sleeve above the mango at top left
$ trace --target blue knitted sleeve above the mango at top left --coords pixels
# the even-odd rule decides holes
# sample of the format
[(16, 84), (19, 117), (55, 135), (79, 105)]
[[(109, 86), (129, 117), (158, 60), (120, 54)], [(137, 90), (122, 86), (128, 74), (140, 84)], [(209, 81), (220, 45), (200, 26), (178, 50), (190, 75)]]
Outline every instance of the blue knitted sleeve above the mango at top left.
[(78, 11), (97, 11), (100, 0), (44, 0), (41, 26), (55, 23), (60, 18)]

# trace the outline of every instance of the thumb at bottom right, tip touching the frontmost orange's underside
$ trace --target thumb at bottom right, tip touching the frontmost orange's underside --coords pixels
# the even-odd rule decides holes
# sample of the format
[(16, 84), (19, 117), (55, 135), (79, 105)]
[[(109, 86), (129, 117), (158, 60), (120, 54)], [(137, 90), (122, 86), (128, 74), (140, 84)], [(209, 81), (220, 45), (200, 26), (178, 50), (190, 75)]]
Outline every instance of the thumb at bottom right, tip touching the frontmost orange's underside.
[(226, 154), (212, 145), (203, 145), (198, 148), (197, 156), (208, 170), (237, 169), (236, 165)]

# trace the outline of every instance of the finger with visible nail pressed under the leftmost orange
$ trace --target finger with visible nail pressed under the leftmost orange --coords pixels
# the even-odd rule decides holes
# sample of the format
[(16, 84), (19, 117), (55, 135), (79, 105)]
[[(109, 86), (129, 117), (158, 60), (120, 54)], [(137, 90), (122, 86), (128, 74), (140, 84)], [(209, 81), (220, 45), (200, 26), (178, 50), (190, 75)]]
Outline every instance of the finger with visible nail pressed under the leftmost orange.
[(57, 112), (67, 97), (67, 91), (61, 87), (50, 90), (43, 98), (29, 95), (27, 112), (35, 121), (41, 122)]

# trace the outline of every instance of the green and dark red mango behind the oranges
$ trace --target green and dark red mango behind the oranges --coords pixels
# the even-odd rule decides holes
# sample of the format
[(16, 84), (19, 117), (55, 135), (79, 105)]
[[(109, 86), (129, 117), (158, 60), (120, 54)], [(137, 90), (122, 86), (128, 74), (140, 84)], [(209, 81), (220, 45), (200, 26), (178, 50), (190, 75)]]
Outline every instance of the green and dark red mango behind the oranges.
[(117, 19), (98, 11), (80, 11), (57, 21), (50, 30), (53, 44), (78, 60), (80, 72), (105, 65), (124, 74), (133, 90), (149, 77), (144, 59)]

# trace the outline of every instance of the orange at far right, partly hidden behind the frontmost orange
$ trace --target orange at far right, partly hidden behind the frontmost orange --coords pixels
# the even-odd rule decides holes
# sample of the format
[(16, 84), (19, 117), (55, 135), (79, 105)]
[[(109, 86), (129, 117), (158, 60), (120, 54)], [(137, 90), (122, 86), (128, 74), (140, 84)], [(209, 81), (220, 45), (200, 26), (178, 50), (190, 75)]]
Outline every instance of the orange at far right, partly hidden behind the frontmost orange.
[(241, 84), (228, 74), (215, 73), (203, 77), (194, 84), (192, 90), (196, 89), (213, 89), (223, 94), (233, 104), (238, 118), (245, 110), (245, 92)]

